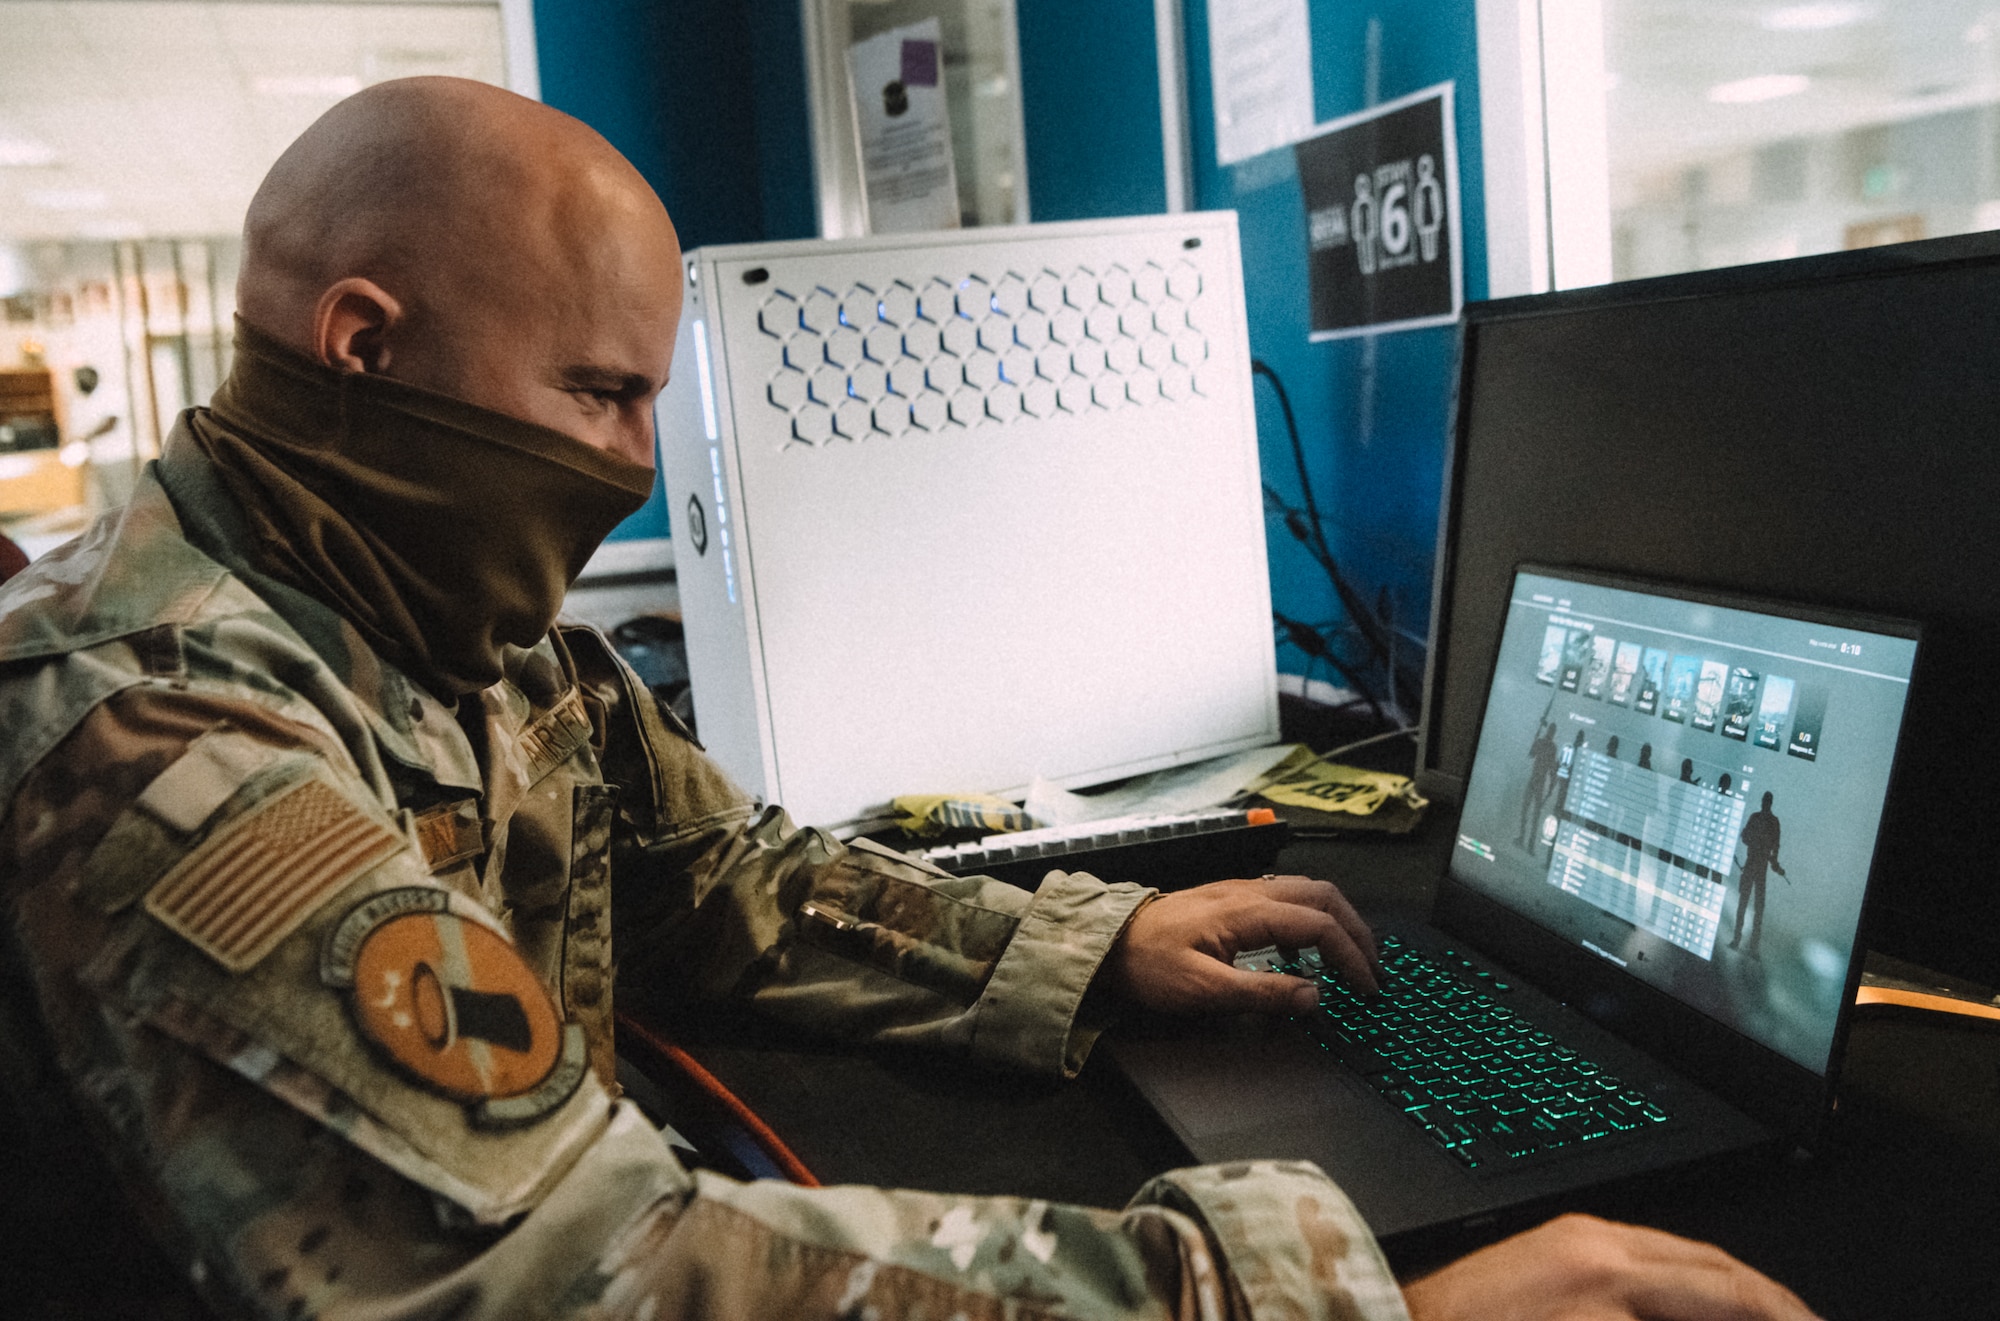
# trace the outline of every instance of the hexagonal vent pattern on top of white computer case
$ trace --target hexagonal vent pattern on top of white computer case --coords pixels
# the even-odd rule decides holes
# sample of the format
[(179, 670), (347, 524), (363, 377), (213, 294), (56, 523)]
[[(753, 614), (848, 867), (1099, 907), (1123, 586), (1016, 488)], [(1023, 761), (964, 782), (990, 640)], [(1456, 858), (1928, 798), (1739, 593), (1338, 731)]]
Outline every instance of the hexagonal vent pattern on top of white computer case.
[(774, 288), (764, 398), (802, 444), (1174, 404), (1204, 392), (1202, 310), (1186, 260)]

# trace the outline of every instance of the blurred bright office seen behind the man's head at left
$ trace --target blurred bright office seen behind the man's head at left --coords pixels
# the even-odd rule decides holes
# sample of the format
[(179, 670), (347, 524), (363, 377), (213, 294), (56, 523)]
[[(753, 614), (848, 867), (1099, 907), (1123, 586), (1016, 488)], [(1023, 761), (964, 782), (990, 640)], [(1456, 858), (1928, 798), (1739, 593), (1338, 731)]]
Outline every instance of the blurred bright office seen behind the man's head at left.
[(0, 2), (0, 524), (24, 548), (122, 502), (208, 400), (258, 180), (402, 74), (504, 82), (500, 10)]

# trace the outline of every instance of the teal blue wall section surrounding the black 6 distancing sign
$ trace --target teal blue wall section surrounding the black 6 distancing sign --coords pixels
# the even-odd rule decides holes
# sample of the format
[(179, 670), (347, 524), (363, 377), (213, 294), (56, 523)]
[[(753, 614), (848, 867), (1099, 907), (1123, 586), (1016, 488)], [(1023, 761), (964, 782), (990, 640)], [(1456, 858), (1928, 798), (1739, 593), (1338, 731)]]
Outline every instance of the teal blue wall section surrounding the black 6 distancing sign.
[[(1318, 122), (1366, 108), (1368, 20), (1380, 22), (1378, 98), (1456, 82), (1458, 198), (1466, 298), (1486, 296), (1486, 208), (1480, 162), (1474, 0), (1312, 0), (1312, 88)], [(1292, 394), (1306, 470), (1328, 516), (1334, 556), (1366, 598), (1384, 592), (1396, 622), (1422, 638), (1430, 622), (1444, 444), (1456, 330), (1400, 330), (1368, 340), (1308, 342), (1306, 218), (1290, 152), (1216, 164), (1206, 0), (1186, 0), (1194, 192), (1202, 208), (1234, 208), (1242, 224), (1250, 350)], [(1264, 480), (1300, 504), (1284, 418), (1258, 382)], [(1342, 616), (1326, 574), (1272, 520), (1272, 604), (1300, 620)], [(1356, 652), (1358, 654), (1358, 652)], [(1334, 679), (1290, 642), (1278, 669)], [(1414, 711), (1410, 713), (1414, 715)]]

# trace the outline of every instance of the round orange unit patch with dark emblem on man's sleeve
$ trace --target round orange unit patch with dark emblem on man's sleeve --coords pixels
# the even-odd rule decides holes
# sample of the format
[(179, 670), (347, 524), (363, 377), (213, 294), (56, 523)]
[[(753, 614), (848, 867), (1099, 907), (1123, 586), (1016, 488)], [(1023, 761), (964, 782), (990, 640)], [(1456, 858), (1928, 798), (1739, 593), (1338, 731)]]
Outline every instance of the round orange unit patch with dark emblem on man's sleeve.
[(506, 937), (454, 913), (444, 891), (364, 901), (334, 933), (328, 971), (348, 987), (362, 1035), (458, 1101), (528, 1097), (564, 1063), (548, 991)]

